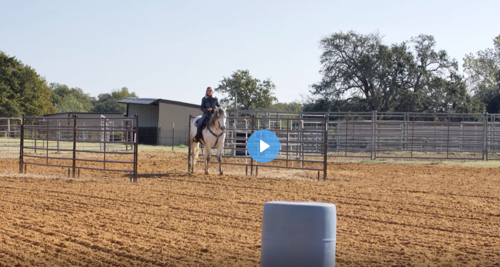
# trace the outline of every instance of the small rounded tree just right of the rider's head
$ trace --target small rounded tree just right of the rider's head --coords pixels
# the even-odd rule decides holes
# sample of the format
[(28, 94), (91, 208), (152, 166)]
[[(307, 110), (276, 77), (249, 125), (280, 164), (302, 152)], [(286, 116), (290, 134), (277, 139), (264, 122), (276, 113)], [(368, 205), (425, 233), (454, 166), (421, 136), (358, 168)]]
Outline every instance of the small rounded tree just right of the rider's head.
[(238, 108), (244, 110), (268, 109), (278, 101), (273, 91), (276, 86), (270, 78), (261, 81), (250, 75), (248, 70), (236, 70), (230, 77), (224, 77), (215, 92), (220, 92), (226, 97), (221, 99), (224, 104), (234, 103), (236, 94)]

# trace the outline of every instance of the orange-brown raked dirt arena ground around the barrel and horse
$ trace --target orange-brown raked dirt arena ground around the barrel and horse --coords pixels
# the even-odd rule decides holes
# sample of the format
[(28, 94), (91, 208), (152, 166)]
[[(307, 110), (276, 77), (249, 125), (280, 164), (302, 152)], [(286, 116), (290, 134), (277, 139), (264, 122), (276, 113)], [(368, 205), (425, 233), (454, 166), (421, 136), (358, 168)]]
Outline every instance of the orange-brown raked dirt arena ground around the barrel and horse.
[(190, 175), (186, 158), (140, 152), (136, 184), (60, 167), (9, 174), (0, 160), (0, 266), (259, 266), (273, 200), (336, 204), (339, 267), (500, 265), (498, 167), (334, 162), (323, 182), (229, 165)]

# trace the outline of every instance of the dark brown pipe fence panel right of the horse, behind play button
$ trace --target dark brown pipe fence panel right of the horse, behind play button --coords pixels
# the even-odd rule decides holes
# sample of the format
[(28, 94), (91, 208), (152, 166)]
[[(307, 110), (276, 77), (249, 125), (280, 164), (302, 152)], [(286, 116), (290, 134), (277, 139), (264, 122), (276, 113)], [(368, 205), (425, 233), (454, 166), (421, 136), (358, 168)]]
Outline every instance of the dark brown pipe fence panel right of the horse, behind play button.
[[(189, 122), (193, 118), (192, 115), (189, 115)], [(322, 171), (323, 180), (326, 180), (327, 155), (324, 151), (326, 151), (328, 135), (327, 116), (275, 119), (251, 114), (248, 117), (228, 117), (227, 122), (222, 164), (244, 166), (246, 175), (248, 175), (248, 167), (250, 167), (250, 175), (253, 175), (254, 167), (255, 175), (258, 174), (259, 168), (263, 167), (315, 170), (318, 172), (319, 180)], [(321, 124), (323, 127), (307, 128), (305, 125), (308, 123)], [(189, 125), (191, 124), (189, 123)], [(260, 129), (273, 131), (280, 140), (280, 152), (269, 163), (259, 163), (253, 160), (246, 151), (248, 138)], [(200, 146), (204, 148), (203, 145)], [(188, 154), (188, 158), (190, 158), (191, 150)], [(195, 162), (199, 164), (203, 163), (203, 160), (197, 159)], [(188, 161), (188, 170), (191, 167), (190, 164)], [(214, 161), (210, 164), (218, 164), (218, 162)]]

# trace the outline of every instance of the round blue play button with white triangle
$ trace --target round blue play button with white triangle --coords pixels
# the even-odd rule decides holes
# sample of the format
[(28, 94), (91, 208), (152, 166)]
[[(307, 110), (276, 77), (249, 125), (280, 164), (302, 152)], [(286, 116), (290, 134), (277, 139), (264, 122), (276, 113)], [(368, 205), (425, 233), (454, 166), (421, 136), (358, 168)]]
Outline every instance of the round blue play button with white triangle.
[(246, 151), (257, 162), (266, 163), (278, 156), (281, 145), (270, 130), (258, 130), (248, 138)]

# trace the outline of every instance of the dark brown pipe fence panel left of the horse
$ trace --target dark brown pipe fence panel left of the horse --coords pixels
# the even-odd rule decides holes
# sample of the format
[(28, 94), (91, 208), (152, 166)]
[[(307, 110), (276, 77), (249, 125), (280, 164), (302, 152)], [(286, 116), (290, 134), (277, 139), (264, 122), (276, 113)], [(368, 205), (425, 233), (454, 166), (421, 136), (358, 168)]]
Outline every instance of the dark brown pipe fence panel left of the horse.
[(27, 165), (80, 171), (122, 171), (137, 182), (138, 116), (128, 118), (52, 118), (23, 116), (19, 172)]

